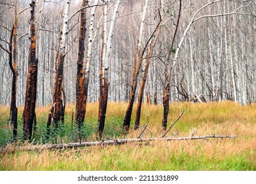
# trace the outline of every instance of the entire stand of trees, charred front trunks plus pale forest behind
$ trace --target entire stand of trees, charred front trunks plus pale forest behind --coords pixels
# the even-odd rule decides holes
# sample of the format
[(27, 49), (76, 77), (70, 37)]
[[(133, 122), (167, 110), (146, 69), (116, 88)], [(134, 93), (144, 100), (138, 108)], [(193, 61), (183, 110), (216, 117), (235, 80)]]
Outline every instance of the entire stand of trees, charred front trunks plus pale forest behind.
[(255, 1), (3, 0), (0, 11), (0, 104), (11, 101), (14, 131), (24, 106), (29, 139), (36, 106), (52, 104), (50, 131), (76, 101), (80, 131), (99, 101), (101, 137), (107, 101), (129, 102), (126, 131), (134, 100), (134, 129), (142, 101), (163, 103), (164, 129), (170, 101), (255, 102)]

